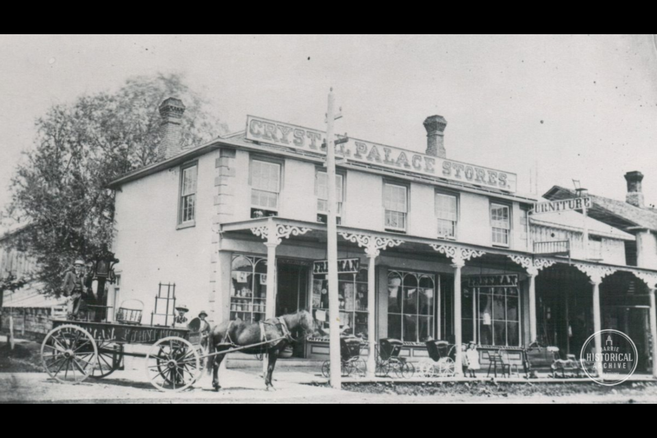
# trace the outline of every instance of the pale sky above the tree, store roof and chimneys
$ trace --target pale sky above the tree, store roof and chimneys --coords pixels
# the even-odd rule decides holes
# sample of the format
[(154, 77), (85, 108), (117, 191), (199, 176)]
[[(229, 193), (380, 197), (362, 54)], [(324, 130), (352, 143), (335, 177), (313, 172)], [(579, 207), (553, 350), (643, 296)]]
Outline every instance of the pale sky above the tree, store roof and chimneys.
[(247, 114), (324, 129), (333, 87), (340, 133), (424, 152), (440, 114), (448, 158), (515, 172), (519, 192), (578, 179), (624, 199), (640, 170), (657, 204), (652, 35), (3, 35), (0, 60), (0, 207), (51, 105), (159, 72), (231, 131)]

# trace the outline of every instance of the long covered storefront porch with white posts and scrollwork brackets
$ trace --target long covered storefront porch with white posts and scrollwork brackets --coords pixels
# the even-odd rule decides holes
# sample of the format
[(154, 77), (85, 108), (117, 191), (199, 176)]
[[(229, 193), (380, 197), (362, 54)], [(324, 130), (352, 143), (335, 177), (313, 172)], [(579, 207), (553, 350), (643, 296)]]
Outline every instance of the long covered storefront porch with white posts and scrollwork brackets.
[[(321, 263), (318, 268), (318, 262), (327, 258), (326, 226), (261, 218), (223, 224), (220, 235), (223, 287), (216, 298), (218, 315), (260, 320), (307, 309), (315, 317), (315, 334), (296, 348), (294, 356), (305, 361), (328, 359), (327, 285)], [(626, 272), (637, 279), (643, 276), (649, 283), (655, 275), (626, 266), (534, 257), (504, 248), (341, 226), (338, 235), (338, 257), (348, 268), (339, 276), (340, 324), (345, 333), (363, 339), (361, 354), (367, 357), (368, 371), (374, 370), (370, 352), (376, 351), (379, 339), (387, 337), (404, 342), (401, 354), (410, 361), (426, 360), (427, 339), (444, 339), (457, 346), (471, 341), (478, 344), (482, 368), (487, 368), (489, 353), (498, 348), (517, 352), (513, 360), (519, 365), (525, 348), (537, 340), (550, 340), (544, 337), (548, 330), (545, 303), (552, 294), (548, 285), (553, 272), (574, 269), (583, 276), (580, 283), (589, 283), (590, 299), (580, 302), (584, 307), (590, 303), (587, 308), (593, 329), (604, 328), (600, 285), (606, 276)], [(649, 293), (645, 294), (651, 328), (655, 326), (655, 283), (652, 288), (646, 286)], [(267, 291), (274, 291), (274, 299)], [(555, 299), (554, 294), (550, 296)], [(563, 331), (563, 327), (558, 330)], [(563, 348), (559, 342), (551, 343), (564, 355), (575, 349), (574, 345)], [(460, 363), (461, 349), (455, 350), (455, 361)], [(654, 367), (651, 370), (655, 372)], [(461, 375), (457, 366), (456, 377)]]

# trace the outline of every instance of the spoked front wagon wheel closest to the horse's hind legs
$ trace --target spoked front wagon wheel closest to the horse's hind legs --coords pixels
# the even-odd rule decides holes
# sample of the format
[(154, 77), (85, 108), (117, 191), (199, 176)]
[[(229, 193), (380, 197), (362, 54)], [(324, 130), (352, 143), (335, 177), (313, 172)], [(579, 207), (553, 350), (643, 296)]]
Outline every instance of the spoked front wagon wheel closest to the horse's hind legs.
[(182, 391), (201, 378), (198, 348), (181, 337), (165, 337), (146, 356), (146, 376), (160, 391)]

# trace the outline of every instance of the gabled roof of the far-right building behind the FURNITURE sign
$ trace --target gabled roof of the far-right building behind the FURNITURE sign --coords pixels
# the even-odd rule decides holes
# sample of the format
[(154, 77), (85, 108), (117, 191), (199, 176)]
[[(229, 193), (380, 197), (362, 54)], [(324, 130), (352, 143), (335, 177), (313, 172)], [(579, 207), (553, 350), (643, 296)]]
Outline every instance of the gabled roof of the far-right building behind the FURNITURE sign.
[[(634, 207), (634, 205), (625, 201), (617, 201), (604, 196), (593, 194), (587, 196), (593, 202), (593, 207), (589, 209), (591, 218), (630, 233), (634, 229), (657, 231), (657, 210)], [(543, 197), (548, 198), (550, 201), (558, 201), (576, 198), (578, 195), (574, 190), (555, 185)]]

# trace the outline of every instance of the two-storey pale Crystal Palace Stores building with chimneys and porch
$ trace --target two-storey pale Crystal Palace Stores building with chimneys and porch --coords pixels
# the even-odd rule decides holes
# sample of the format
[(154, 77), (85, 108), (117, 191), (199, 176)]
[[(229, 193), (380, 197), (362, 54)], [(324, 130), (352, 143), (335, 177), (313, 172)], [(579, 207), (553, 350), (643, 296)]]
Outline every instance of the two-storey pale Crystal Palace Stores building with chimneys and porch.
[[(114, 306), (142, 300), (149, 315), (158, 284), (175, 283), (179, 302), (214, 322), (309, 309), (315, 337), (295, 354), (326, 357), (324, 133), (248, 116), (246, 131), (181, 151), (183, 111), (177, 99), (162, 103), (161, 161), (111, 184), (121, 260)], [(370, 343), (402, 339), (411, 359), (426, 357), (426, 339), (441, 338), (482, 344), (484, 363), (499, 348), (519, 361), (541, 335), (539, 272), (574, 266), (594, 282), (610, 272), (657, 279), (625, 263), (634, 235), (595, 220), (595, 260), (576, 244), (566, 256), (535, 255), (532, 240), (576, 240), (577, 225), (530, 224), (537, 200), (517, 192), (516, 175), (448, 159), (446, 125), (441, 116), (424, 120), (424, 154), (352, 138), (337, 146), (343, 329)]]

